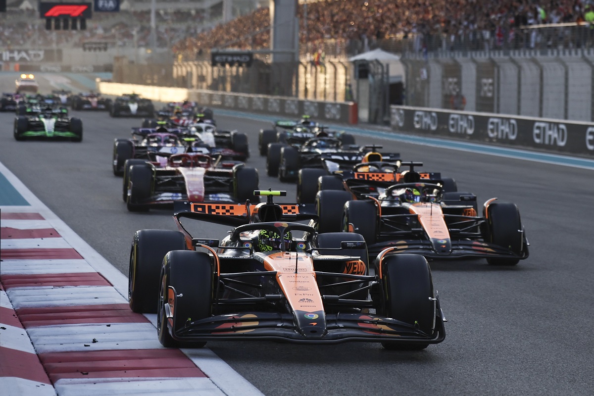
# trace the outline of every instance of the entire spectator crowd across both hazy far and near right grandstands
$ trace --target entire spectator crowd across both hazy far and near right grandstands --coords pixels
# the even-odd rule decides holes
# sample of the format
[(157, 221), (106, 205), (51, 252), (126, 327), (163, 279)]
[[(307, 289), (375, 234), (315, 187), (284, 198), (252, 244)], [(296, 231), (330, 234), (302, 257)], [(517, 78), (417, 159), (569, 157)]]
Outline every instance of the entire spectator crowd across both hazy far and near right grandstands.
[[(308, 51), (337, 42), (338, 50), (351, 53), (387, 41), (407, 42), (409, 49), (418, 52), (593, 46), (590, 1), (594, 0), (304, 0), (297, 8), (299, 40)], [(0, 21), (0, 46), (64, 47), (86, 41), (126, 47), (150, 44), (149, 11), (96, 14), (87, 22), (86, 31), (46, 31), (45, 21), (23, 15)], [(261, 49), (270, 45), (266, 7), (211, 28), (219, 20), (220, 16), (205, 15), (201, 9), (159, 11), (157, 46), (196, 59), (213, 47)], [(582, 26), (526, 28), (562, 23)]]

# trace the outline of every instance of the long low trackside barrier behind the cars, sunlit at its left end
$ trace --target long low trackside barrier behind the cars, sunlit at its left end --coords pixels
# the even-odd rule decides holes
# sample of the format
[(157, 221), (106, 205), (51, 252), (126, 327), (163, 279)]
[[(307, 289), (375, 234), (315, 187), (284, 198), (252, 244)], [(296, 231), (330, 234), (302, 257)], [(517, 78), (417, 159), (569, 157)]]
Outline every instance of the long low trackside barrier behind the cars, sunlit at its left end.
[(278, 115), (279, 118), (293, 119), (306, 114), (320, 121), (349, 124), (358, 123), (358, 110), (355, 102), (324, 102), (321, 100), (303, 100), (284, 96), (119, 84), (100, 80), (97, 81), (97, 91), (113, 96), (137, 93), (142, 97), (158, 102), (191, 100), (200, 103), (201, 106)]

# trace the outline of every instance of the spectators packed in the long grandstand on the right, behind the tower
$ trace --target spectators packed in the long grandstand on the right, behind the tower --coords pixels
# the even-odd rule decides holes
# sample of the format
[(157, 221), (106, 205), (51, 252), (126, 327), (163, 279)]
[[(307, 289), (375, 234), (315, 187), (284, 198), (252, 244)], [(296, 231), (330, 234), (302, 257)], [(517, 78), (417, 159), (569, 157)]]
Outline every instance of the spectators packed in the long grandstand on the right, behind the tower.
[[(300, 42), (314, 49), (328, 40), (356, 52), (380, 41), (408, 41), (418, 52), (437, 48), (498, 49), (592, 46), (591, 0), (320, 0), (298, 5)], [(307, 14), (307, 18), (304, 16)], [(577, 28), (533, 29), (583, 23)], [(211, 47), (268, 47), (270, 15), (260, 8), (224, 26), (188, 36), (174, 51), (188, 58)], [(573, 29), (573, 30), (572, 30)], [(579, 34), (576, 34), (579, 33)], [(355, 46), (353, 47), (353, 43)], [(306, 44), (305, 46), (303, 46)]]

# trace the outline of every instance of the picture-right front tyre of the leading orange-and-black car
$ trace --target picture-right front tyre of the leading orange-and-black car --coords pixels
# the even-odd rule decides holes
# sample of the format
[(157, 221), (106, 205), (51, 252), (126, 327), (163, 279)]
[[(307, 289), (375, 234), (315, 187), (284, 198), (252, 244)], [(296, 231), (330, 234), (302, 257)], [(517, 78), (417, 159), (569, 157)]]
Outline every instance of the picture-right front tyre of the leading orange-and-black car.
[[(435, 327), (435, 293), (429, 264), (421, 255), (385, 256), (381, 265), (383, 301), (380, 315), (417, 327), (431, 336)], [(421, 350), (428, 343), (381, 343), (390, 350)]]

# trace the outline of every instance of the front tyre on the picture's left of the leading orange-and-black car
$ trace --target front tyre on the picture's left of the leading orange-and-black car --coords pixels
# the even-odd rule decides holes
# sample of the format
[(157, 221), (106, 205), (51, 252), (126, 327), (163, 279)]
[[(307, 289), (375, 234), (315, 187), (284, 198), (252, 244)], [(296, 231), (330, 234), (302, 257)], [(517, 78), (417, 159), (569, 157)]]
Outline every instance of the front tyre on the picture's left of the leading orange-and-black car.
[[(171, 337), (165, 304), (175, 293), (173, 306), (173, 332), (183, 328), (188, 321), (208, 318), (213, 307), (213, 265), (204, 252), (169, 252), (161, 267), (161, 281), (157, 312), (157, 334), (164, 347), (199, 348), (206, 342), (182, 342)], [(172, 287), (173, 290), (169, 290)]]

